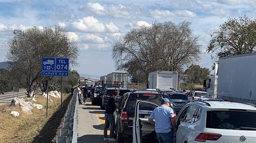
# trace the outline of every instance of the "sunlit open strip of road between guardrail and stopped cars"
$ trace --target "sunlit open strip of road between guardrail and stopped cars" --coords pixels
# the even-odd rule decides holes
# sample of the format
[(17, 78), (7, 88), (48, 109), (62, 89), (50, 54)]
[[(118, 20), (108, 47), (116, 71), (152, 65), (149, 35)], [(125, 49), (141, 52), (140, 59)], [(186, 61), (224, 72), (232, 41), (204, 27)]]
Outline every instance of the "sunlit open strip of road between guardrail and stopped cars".
[(91, 105), (89, 100), (85, 105), (78, 105), (78, 143), (110, 143), (103, 141), (104, 112), (100, 106)]

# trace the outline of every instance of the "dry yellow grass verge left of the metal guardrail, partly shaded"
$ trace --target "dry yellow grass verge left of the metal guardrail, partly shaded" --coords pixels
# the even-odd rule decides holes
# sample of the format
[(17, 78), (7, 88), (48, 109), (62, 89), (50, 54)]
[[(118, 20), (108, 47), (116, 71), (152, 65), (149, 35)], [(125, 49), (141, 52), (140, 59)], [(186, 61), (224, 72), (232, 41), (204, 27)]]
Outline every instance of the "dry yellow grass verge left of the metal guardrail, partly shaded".
[[(65, 113), (71, 97), (67, 95), (63, 96), (63, 109), (60, 108), (60, 98), (55, 99), (51, 97), (51, 99), (53, 102), (48, 102), (47, 117), (46, 98), (39, 95), (36, 96), (37, 102), (34, 103), (43, 105), (43, 109), (38, 110), (33, 108), (32, 114), (21, 111), (19, 106), (1, 105), (0, 143), (51, 142), (56, 135), (58, 126), (63, 118), (63, 113)], [(17, 111), (20, 115), (15, 118), (10, 115), (10, 111)], [(56, 123), (58, 125), (54, 125)], [(48, 129), (50, 129), (48, 131), (49, 133), (45, 133)]]

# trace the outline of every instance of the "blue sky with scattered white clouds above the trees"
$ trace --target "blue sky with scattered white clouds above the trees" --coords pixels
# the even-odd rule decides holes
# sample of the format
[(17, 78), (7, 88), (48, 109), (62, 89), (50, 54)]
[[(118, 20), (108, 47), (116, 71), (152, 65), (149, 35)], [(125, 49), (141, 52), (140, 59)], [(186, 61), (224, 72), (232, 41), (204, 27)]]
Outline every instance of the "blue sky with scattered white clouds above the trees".
[(115, 71), (112, 45), (124, 33), (152, 21), (190, 21), (200, 36), (202, 67), (211, 67), (205, 49), (210, 34), (228, 17), (256, 16), (256, 0), (0, 0), (0, 62), (6, 61), (11, 30), (60, 25), (80, 48), (79, 73), (104, 75)]

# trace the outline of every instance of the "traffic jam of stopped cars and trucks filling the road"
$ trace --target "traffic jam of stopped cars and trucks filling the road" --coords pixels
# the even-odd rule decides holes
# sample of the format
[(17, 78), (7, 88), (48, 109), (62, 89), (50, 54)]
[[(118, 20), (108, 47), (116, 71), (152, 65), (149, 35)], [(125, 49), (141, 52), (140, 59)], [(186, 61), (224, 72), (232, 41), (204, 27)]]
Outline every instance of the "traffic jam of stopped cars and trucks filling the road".
[(178, 72), (172, 71), (149, 73), (149, 88), (141, 90), (127, 88), (127, 73), (102, 76), (90, 97), (105, 111), (110, 134), (102, 140), (255, 143), (255, 75), (246, 67), (252, 58), (256, 54), (220, 58), (203, 89), (179, 90)]

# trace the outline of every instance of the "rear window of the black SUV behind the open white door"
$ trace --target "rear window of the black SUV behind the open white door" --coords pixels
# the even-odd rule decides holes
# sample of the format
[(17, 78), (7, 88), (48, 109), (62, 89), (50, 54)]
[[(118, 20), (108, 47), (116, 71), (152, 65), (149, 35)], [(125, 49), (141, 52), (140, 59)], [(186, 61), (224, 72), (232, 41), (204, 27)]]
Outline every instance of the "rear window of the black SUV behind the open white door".
[[(161, 102), (162, 102), (162, 98), (168, 98), (168, 95), (162, 95), (162, 98), (161, 98), (160, 94), (155, 94), (155, 95), (156, 96), (149, 96), (149, 94), (147, 94), (147, 96), (144, 96), (143, 94), (139, 94), (138, 100), (150, 101), (150, 102), (156, 103), (157, 105), (160, 106)], [(130, 110), (134, 110), (135, 109), (136, 99), (137, 99), (137, 94), (131, 94), (131, 96), (132, 97), (130, 99), (128, 108)]]

